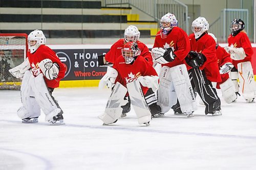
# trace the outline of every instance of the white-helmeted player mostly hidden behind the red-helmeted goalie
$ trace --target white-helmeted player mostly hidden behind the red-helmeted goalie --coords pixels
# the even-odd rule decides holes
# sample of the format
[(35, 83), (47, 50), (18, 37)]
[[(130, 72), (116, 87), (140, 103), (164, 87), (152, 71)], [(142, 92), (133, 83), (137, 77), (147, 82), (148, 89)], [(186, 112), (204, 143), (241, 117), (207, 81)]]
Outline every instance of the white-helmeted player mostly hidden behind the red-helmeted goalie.
[[(138, 47), (141, 50), (141, 56), (151, 65), (153, 65), (153, 60), (152, 60), (152, 56), (151, 53), (148, 51), (147, 46), (140, 42), (138, 39), (140, 38), (140, 32), (138, 30), (138, 28), (136, 26), (129, 26), (125, 29), (124, 34), (123, 34), (124, 38), (119, 39), (117, 42), (115, 42), (111, 48), (110, 51), (108, 53), (105, 54), (105, 56), (103, 57), (104, 60), (106, 60), (106, 62), (109, 63), (115, 63), (116, 59), (122, 55), (122, 48), (123, 45), (126, 42), (137, 42)], [(126, 100), (128, 100), (129, 102), (123, 106), (123, 114), (121, 115), (122, 117), (126, 116), (126, 113), (129, 112), (131, 110), (131, 101), (129, 99), (129, 96), (126, 96)]]

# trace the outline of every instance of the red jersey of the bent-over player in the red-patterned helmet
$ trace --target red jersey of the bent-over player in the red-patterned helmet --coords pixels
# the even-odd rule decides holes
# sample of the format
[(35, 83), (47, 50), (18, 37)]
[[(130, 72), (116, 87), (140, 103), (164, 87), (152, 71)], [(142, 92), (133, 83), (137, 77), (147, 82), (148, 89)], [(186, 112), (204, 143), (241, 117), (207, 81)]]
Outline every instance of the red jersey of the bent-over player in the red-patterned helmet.
[[(123, 56), (119, 56), (114, 63), (113, 68), (118, 71), (116, 81), (126, 87), (127, 83), (133, 82), (140, 76), (158, 76), (154, 67), (148, 63), (142, 56), (138, 56), (132, 64), (125, 64)], [(148, 88), (141, 86), (144, 95)]]

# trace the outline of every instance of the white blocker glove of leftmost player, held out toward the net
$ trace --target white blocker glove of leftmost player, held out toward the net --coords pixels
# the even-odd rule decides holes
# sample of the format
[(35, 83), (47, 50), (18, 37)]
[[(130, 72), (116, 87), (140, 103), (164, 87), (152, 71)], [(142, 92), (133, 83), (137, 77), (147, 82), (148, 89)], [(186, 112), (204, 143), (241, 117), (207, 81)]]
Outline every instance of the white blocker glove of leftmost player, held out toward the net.
[(29, 58), (26, 58), (22, 64), (19, 64), (18, 66), (12, 69), (9, 69), (9, 72), (12, 74), (12, 76), (21, 79), (23, 78), (25, 71), (29, 69), (30, 69)]

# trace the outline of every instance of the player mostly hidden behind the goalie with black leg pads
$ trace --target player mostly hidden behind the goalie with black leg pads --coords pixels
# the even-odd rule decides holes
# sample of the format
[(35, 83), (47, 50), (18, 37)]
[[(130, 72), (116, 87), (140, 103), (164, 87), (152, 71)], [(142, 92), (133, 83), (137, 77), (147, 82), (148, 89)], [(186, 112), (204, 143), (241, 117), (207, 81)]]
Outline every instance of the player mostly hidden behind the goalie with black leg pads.
[(218, 65), (221, 74), (221, 82), (218, 82), (216, 88), (221, 89), (222, 97), (226, 103), (231, 103), (236, 101), (237, 94), (234, 85), (229, 78), (228, 73), (233, 68), (232, 60), (230, 54), (228, 54), (223, 47), (217, 43), (217, 38), (214, 34), (208, 33), (216, 42), (216, 58), (218, 59)]

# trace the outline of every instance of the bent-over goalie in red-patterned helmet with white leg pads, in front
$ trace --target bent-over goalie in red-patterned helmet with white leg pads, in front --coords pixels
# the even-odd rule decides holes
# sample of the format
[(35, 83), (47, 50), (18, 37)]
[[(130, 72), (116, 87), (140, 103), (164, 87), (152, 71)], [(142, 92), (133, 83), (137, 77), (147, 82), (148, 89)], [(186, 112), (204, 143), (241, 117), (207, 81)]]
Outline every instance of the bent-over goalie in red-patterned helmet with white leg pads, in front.
[(128, 95), (127, 91), (139, 124), (148, 126), (152, 115), (161, 112), (154, 92), (158, 88), (157, 72), (140, 56), (140, 49), (136, 42), (129, 41), (124, 44), (122, 56), (117, 58), (113, 68), (108, 67), (101, 80), (106, 82), (109, 88), (115, 84), (105, 112), (98, 116), (104, 122), (103, 125), (117, 122), (122, 114), (121, 106), (127, 102), (124, 101), (124, 96)]

